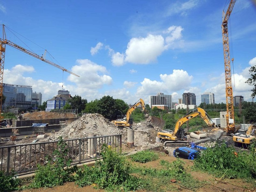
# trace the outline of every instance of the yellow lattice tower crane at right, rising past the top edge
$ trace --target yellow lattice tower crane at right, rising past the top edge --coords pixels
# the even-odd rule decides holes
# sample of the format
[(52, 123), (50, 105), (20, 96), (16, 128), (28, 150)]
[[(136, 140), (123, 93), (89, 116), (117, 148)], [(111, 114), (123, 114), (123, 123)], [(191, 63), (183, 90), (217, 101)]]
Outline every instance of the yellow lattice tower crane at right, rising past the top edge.
[[(231, 69), (230, 69), (230, 52), (229, 52), (229, 40), (228, 40), (228, 18), (232, 12), (236, 0), (231, 0), (228, 6), (228, 10), (222, 15), (222, 40), (224, 51), (224, 65), (225, 65), (225, 79), (226, 79), (226, 103), (227, 103), (227, 124), (224, 129), (228, 134), (235, 132), (235, 118), (234, 118), (234, 106), (233, 106), (233, 88), (231, 81)], [(233, 61), (234, 59), (232, 59)]]

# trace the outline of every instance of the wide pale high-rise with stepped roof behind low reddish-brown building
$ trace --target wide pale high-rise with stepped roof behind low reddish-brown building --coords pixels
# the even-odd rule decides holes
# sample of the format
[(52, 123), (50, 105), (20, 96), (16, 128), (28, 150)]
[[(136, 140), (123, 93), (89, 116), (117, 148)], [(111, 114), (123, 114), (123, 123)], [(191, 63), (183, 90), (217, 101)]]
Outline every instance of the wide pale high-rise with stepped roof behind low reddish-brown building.
[(150, 96), (149, 106), (152, 105), (168, 105), (168, 108), (172, 108), (172, 95), (164, 95), (164, 93), (158, 92), (156, 96)]

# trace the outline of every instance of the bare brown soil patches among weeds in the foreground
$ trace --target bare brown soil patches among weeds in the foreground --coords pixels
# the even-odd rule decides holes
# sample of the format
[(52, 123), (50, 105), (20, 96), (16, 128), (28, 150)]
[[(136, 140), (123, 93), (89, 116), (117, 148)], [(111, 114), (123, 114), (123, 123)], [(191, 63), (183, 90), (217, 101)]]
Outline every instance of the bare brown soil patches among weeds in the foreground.
[[(160, 149), (160, 148), (159, 148)], [(157, 150), (157, 149), (155, 149)], [(162, 149), (164, 152), (164, 149)], [(160, 158), (156, 161), (153, 162), (148, 162), (145, 164), (140, 164), (136, 162), (132, 162), (133, 165), (136, 166), (145, 166), (145, 167), (152, 167), (152, 168), (158, 168), (160, 164), (160, 160), (166, 160), (169, 162), (175, 161), (176, 158), (173, 156), (168, 156), (167, 154), (161, 153)], [(225, 180), (220, 180), (218, 178), (214, 178), (213, 176), (202, 173), (202, 172), (195, 172), (191, 171), (190, 167), (193, 165), (192, 160), (186, 160), (183, 159), (182, 161), (185, 162), (185, 167), (188, 170), (188, 172), (195, 178), (198, 179), (199, 182), (204, 182), (204, 186), (202, 188), (199, 188), (197, 191), (198, 192), (251, 192), (251, 191), (256, 191), (255, 185), (253, 186), (252, 183), (246, 183), (241, 179), (225, 179)], [(171, 183), (171, 182), (170, 182)], [(191, 190), (187, 188), (183, 188), (179, 185), (179, 182), (172, 183), (173, 185), (173, 191), (182, 191), (182, 192), (190, 192)], [(76, 192), (103, 192), (105, 190), (102, 189), (96, 189), (94, 188), (95, 186), (86, 186), (83, 188), (79, 188), (78, 186), (75, 185), (74, 182), (68, 182), (65, 183), (63, 186), (57, 186), (54, 188), (39, 188), (39, 189), (26, 189), (22, 190), (23, 192), (48, 192), (48, 191), (54, 191), (54, 192), (70, 192), (70, 191), (76, 191)], [(176, 190), (177, 189), (177, 190)], [(137, 192), (146, 192), (146, 190), (136, 190)]]

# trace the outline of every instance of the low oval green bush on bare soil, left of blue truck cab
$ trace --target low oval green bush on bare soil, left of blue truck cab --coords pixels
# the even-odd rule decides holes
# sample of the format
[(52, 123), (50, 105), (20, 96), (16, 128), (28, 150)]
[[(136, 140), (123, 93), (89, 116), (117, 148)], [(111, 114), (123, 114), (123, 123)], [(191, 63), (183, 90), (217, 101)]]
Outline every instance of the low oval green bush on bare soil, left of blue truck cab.
[(159, 155), (153, 151), (139, 151), (130, 156), (132, 161), (139, 162), (139, 163), (147, 163), (149, 161), (155, 161), (159, 158)]

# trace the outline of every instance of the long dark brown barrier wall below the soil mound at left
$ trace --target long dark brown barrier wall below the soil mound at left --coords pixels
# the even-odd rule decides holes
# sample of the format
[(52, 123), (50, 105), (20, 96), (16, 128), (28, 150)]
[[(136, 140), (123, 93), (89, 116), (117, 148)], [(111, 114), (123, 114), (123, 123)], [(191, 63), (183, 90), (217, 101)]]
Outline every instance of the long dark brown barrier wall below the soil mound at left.
[(76, 121), (79, 117), (60, 118), (60, 119), (38, 119), (38, 120), (13, 120), (12, 127), (30, 127), (33, 123), (48, 123), (48, 125), (61, 124), (66, 121)]

